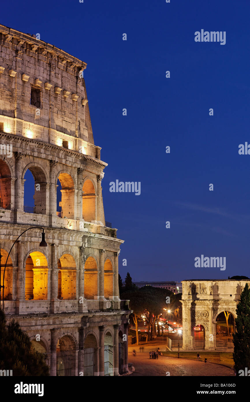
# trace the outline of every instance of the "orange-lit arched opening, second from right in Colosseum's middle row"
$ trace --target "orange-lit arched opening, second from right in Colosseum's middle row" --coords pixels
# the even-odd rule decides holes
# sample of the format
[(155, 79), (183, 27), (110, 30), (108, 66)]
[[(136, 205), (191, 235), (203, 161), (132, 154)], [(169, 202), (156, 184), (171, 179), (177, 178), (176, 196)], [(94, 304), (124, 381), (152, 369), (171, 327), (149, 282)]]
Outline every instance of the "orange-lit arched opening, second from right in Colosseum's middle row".
[(94, 299), (98, 295), (98, 268), (96, 260), (88, 257), (84, 265), (84, 297)]

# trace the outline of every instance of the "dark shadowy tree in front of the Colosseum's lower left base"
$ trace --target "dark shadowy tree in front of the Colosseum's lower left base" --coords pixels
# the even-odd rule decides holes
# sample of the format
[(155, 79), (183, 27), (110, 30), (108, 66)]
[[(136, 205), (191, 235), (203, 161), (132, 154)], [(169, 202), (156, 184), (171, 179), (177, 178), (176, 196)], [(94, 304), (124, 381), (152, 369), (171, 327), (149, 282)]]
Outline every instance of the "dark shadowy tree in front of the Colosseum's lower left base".
[(18, 322), (6, 325), (4, 312), (0, 309), (0, 369), (12, 370), (12, 375), (49, 375), (49, 367), (42, 353), (31, 348), (28, 334)]

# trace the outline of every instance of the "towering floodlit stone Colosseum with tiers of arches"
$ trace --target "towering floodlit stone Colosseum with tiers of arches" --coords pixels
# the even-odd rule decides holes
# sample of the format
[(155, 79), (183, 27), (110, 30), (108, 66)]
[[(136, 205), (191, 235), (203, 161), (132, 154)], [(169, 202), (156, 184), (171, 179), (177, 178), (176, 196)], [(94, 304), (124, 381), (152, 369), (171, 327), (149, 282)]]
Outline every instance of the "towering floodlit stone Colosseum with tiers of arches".
[[(86, 64), (0, 25), (1, 306), (45, 354), (50, 375), (128, 372), (123, 240), (105, 222)], [(35, 181), (24, 205), (25, 174)], [(5, 272), (4, 272), (5, 269)], [(2, 283), (1, 283), (2, 284)], [(4, 294), (3, 294), (4, 291)]]

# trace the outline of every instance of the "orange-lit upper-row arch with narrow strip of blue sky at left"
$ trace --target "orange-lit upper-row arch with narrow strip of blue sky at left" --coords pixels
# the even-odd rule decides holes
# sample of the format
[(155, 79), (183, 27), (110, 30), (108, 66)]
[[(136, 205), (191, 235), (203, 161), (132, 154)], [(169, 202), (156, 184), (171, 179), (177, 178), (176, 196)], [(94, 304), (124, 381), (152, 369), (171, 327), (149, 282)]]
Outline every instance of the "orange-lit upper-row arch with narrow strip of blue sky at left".
[(72, 177), (60, 173), (57, 186), (57, 216), (74, 219), (75, 186)]

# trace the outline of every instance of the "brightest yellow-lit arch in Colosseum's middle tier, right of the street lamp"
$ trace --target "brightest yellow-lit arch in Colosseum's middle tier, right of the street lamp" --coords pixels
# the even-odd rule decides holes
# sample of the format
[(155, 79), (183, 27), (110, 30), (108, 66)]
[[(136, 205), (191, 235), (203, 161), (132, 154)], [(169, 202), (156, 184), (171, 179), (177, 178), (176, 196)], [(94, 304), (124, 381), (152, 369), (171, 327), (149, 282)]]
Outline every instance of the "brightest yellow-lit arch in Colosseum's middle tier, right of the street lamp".
[(25, 300), (47, 300), (47, 295), (47, 259), (40, 251), (33, 251), (25, 264)]

